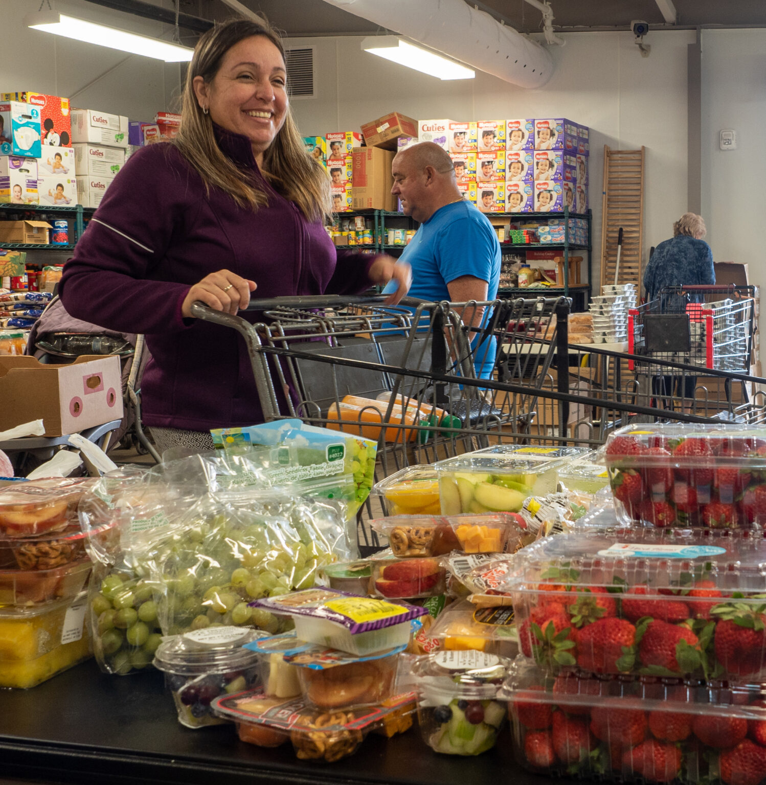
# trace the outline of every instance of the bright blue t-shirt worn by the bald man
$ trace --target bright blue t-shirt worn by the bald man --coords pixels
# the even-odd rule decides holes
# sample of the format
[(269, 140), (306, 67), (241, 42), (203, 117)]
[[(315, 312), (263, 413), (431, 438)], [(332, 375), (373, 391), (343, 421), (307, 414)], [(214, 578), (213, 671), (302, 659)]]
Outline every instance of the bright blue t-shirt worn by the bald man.
[[(500, 243), (492, 224), (470, 202), (462, 201), (440, 207), (402, 251), (401, 261), (412, 266), (409, 296), (423, 300), (450, 300), (447, 284), (460, 276), (474, 276), (487, 282), (487, 300), (497, 297), (500, 283)], [(393, 287), (390, 287), (393, 290)], [(387, 290), (389, 287), (387, 287)], [(485, 309), (482, 327), (489, 319)], [(496, 339), (489, 338), (476, 346), (471, 341), (478, 378), (492, 375)]]

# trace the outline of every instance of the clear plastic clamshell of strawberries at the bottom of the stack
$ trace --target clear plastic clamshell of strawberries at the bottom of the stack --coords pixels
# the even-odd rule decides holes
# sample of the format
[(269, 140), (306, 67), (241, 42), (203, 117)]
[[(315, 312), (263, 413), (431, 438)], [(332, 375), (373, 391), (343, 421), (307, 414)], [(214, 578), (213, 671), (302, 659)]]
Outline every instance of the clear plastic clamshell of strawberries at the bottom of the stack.
[(602, 782), (766, 779), (760, 686), (583, 674), (553, 680), (517, 664), (500, 694), (515, 759), (530, 772)]

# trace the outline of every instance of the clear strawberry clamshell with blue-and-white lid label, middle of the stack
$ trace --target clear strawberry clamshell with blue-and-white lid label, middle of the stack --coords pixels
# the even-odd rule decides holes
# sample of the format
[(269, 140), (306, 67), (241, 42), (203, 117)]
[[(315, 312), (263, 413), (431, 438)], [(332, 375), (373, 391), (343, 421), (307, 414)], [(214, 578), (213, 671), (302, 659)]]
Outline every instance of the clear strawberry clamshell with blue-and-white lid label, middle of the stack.
[(495, 564), (522, 654), (550, 674), (766, 677), (766, 533), (623, 528), (539, 540)]

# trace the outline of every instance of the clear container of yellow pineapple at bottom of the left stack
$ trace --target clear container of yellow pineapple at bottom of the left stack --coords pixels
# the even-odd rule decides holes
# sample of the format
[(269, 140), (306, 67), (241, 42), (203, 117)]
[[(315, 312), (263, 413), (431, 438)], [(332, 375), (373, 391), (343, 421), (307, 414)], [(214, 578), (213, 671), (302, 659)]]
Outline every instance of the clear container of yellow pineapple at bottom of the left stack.
[(86, 610), (84, 593), (31, 608), (0, 608), (0, 687), (34, 687), (90, 657)]

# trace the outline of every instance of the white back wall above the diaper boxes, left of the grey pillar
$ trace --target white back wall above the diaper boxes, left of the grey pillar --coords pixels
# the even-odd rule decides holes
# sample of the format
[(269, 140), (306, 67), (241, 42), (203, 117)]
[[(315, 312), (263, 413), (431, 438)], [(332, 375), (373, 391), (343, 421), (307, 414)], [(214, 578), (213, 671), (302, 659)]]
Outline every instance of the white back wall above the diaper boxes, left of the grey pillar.
[(361, 51), (361, 38), (292, 39), (314, 46), (317, 97), (295, 100), (306, 135), (356, 130), (387, 111), (416, 119), (567, 117), (591, 129), (589, 195), (593, 209), (593, 276), (599, 282), (603, 147), (646, 151), (644, 260), (672, 235), (687, 199), (687, 45), (692, 31), (651, 34), (640, 57), (629, 33), (565, 35), (552, 47), (556, 69), (541, 89), (526, 90), (477, 72), (441, 82)]

